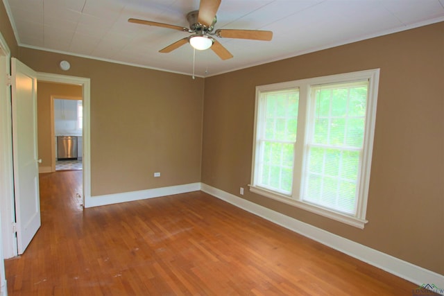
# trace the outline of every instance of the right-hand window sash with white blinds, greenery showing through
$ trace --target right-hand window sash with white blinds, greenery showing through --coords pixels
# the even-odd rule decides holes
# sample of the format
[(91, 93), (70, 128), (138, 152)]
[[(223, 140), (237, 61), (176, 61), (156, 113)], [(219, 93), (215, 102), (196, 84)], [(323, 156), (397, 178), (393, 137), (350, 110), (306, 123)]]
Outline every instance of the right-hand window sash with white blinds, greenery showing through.
[(367, 95), (368, 80), (311, 87), (302, 200), (356, 212)]

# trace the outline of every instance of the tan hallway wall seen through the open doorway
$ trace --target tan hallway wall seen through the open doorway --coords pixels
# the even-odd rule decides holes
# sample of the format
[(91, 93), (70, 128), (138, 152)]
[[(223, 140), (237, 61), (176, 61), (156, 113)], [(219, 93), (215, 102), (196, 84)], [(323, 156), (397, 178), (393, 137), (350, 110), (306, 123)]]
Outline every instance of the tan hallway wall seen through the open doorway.
[(39, 158), (42, 159), (40, 167), (51, 167), (55, 159), (52, 159), (51, 146), (51, 96), (58, 98), (82, 99), (82, 87), (80, 85), (66, 85), (63, 83), (37, 82), (37, 135), (39, 142)]

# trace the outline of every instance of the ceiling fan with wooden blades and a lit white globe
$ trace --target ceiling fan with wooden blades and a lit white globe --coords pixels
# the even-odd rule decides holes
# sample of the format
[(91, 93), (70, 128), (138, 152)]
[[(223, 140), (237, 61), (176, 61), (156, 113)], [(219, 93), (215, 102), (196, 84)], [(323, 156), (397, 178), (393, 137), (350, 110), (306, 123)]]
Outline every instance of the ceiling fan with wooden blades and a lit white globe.
[(214, 24), (216, 24), (217, 21), (216, 12), (220, 5), (221, 0), (200, 0), (199, 10), (191, 11), (187, 15), (189, 28), (157, 23), (155, 21), (146, 21), (143, 19), (128, 19), (128, 21), (135, 24), (158, 26), (162, 28), (171, 28), (173, 30), (194, 33), (189, 37), (182, 38), (164, 49), (161, 49), (159, 51), (160, 53), (169, 53), (189, 42), (194, 49), (205, 50), (211, 48), (212, 51), (214, 51), (216, 55), (219, 55), (219, 58), (222, 60), (228, 60), (232, 58), (233, 55), (214, 37), (264, 41), (270, 41), (273, 37), (273, 32), (271, 31), (218, 29), (213, 32)]

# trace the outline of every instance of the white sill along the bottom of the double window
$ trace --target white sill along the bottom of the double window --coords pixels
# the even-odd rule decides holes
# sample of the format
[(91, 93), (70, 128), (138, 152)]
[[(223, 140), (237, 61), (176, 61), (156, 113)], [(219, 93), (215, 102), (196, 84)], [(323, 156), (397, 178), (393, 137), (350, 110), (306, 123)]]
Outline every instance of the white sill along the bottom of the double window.
[(273, 200), (278, 200), (280, 202), (284, 202), (285, 204), (289, 204), (293, 207), (298, 207), (300, 209), (304, 209), (306, 211), (310, 211), (311, 213), (318, 214), (332, 220), (339, 221), (341, 223), (345, 223), (347, 225), (351, 225), (360, 229), (364, 229), (364, 225), (368, 222), (367, 220), (363, 220), (357, 217), (348, 216), (345, 214), (341, 214), (335, 211), (331, 211), (328, 209), (324, 209), (322, 207), (317, 207), (314, 204), (309, 204), (308, 202), (302, 202), (300, 200), (293, 200), (289, 196), (280, 195), (278, 193), (274, 193), (273, 191), (269, 191), (267, 189), (263, 189), (257, 186), (249, 185), (250, 191), (253, 193), (257, 193), (259, 195), (265, 196), (266, 198), (271, 198)]

